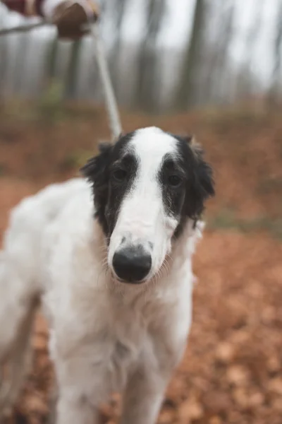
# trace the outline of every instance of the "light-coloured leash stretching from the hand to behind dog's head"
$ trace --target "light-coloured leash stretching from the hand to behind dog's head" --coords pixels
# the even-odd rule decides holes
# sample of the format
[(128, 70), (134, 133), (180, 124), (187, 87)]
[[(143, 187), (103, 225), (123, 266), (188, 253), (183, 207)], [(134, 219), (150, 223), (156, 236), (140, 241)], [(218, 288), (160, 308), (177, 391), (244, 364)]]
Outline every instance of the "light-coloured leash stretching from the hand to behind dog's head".
[[(0, 36), (12, 34), (12, 33), (25, 33), (35, 28), (41, 28), (45, 25), (50, 25), (50, 24), (43, 21), (39, 23), (32, 23), (30, 25), (18, 25), (12, 28), (4, 28), (0, 30)], [(106, 102), (106, 111), (108, 114), (109, 126), (111, 129), (111, 137), (113, 141), (115, 141), (116, 139), (118, 139), (118, 137), (121, 135), (121, 132), (122, 132), (121, 118), (118, 113), (118, 105), (116, 102), (116, 96), (114, 93), (113, 85), (111, 83), (111, 76), (110, 76), (108, 64), (106, 61), (104, 45), (99, 33), (98, 21), (92, 25), (90, 34), (92, 35), (92, 39), (96, 47), (97, 64), (98, 64), (99, 74), (100, 74), (103, 92), (104, 92), (104, 100)]]

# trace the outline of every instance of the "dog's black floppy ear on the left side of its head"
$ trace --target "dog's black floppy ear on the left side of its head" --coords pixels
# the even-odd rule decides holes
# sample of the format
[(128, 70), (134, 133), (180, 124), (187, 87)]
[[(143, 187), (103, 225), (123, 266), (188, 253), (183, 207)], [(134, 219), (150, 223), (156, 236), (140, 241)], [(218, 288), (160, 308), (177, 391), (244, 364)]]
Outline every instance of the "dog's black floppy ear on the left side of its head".
[(103, 143), (99, 146), (99, 154), (88, 160), (80, 168), (82, 175), (92, 183), (94, 194), (95, 216), (102, 225), (104, 231), (107, 231), (105, 217), (106, 202), (109, 193), (109, 163), (113, 146), (110, 143)]

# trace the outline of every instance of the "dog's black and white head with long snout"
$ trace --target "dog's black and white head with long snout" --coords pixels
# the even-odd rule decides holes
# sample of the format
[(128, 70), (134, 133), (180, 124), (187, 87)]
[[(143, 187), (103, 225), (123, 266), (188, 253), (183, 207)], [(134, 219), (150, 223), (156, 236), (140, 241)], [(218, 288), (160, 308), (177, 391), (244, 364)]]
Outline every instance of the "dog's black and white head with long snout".
[(158, 273), (190, 219), (214, 195), (212, 169), (190, 138), (149, 127), (121, 136), (82, 167), (92, 182), (96, 217), (108, 240), (108, 264), (128, 283)]

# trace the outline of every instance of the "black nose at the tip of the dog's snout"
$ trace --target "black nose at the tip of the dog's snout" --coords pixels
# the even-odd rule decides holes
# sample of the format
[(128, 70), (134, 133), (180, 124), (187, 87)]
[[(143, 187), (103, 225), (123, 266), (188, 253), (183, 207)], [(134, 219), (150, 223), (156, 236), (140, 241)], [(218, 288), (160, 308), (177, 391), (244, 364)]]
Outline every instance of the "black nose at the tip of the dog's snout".
[(142, 246), (125, 247), (114, 254), (114, 271), (118, 278), (128, 283), (140, 283), (148, 275), (151, 266), (151, 255)]

